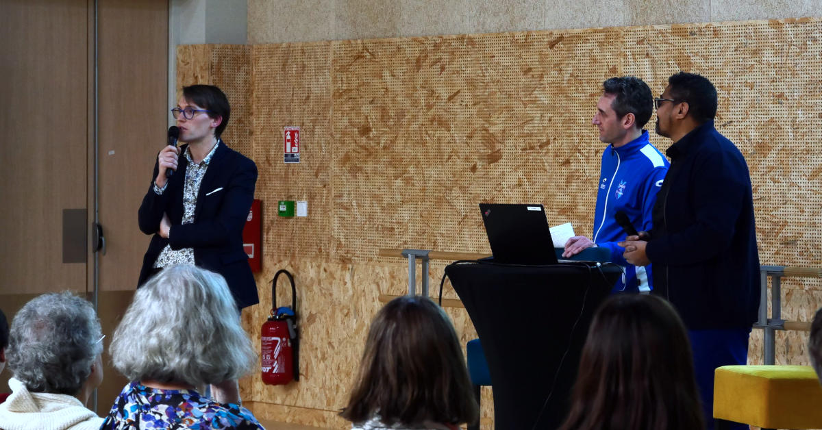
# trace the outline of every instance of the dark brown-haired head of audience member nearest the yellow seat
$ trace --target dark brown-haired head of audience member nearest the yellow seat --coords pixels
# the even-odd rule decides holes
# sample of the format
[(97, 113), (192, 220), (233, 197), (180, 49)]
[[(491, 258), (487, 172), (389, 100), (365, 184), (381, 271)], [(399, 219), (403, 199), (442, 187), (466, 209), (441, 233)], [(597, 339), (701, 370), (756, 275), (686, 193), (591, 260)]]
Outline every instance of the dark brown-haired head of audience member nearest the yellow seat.
[(562, 430), (700, 430), (690, 341), (662, 298), (619, 294), (593, 317)]

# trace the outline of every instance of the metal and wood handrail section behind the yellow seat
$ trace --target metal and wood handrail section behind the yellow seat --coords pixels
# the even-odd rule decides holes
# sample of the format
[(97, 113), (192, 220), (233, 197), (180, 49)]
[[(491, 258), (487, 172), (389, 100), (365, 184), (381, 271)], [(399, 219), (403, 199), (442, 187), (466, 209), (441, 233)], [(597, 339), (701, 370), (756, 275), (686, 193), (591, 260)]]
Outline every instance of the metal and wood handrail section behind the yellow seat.
[[(771, 316), (768, 317), (768, 277), (771, 277)], [(782, 278), (822, 278), (822, 267), (760, 266), (760, 317), (754, 328), (764, 331), (765, 364), (776, 363), (776, 331), (810, 331), (810, 322), (782, 319)]]

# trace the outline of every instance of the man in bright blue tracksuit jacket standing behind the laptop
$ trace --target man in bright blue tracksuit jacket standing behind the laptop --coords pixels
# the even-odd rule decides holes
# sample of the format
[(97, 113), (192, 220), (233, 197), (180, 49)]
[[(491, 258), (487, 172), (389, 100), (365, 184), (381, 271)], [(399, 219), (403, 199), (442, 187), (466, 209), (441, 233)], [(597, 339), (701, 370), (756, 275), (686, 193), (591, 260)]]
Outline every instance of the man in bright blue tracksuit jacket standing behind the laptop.
[(610, 144), (603, 151), (599, 169), (597, 209), (593, 215), (593, 240), (585, 236), (568, 239), (563, 257), (573, 256), (587, 247), (607, 247), (611, 261), (625, 271), (613, 291), (648, 292), (652, 289), (651, 266), (630, 265), (617, 242), (626, 238), (614, 220), (625, 212), (637, 231), (652, 227), (653, 203), (668, 169), (668, 161), (648, 141), (642, 127), (653, 113), (653, 95), (642, 80), (634, 76), (613, 77), (603, 82), (603, 96), (597, 103), (592, 123), (599, 129), (599, 140)]

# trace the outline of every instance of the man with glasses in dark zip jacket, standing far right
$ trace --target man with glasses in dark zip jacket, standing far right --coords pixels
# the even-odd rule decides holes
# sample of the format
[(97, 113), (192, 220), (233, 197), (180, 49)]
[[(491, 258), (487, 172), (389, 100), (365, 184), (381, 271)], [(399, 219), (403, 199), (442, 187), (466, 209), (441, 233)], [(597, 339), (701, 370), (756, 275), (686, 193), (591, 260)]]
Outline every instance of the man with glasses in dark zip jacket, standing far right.
[(653, 293), (667, 298), (688, 328), (710, 429), (713, 371), (746, 363), (760, 305), (750, 173), (741, 152), (714, 128), (717, 93), (704, 76), (671, 76), (654, 104), (656, 132), (674, 142), (666, 151), (671, 167), (653, 207), (652, 231), (620, 245), (626, 261), (653, 262)]

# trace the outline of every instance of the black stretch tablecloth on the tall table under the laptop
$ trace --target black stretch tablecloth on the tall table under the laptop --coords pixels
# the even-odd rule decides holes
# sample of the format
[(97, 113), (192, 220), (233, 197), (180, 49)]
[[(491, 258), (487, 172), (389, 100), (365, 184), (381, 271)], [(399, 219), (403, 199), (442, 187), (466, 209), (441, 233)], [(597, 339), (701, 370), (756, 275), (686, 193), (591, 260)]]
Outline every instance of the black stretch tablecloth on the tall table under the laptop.
[(568, 413), (593, 312), (621, 269), (612, 264), (480, 262), (451, 264), (446, 275), (483, 344), (495, 428), (559, 427)]

